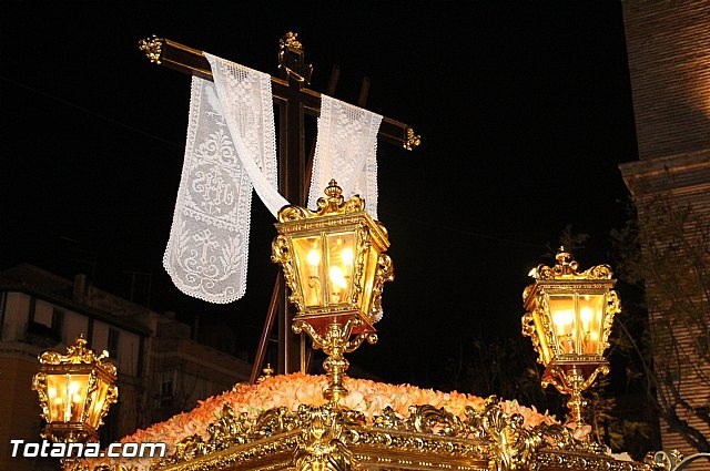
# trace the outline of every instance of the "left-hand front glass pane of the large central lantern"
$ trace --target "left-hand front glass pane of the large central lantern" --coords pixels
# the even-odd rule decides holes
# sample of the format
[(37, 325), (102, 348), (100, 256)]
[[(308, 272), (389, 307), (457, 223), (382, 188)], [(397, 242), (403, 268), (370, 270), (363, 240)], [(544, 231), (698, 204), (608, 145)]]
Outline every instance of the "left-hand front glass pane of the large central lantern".
[(323, 305), (323, 242), (321, 236), (295, 237), (293, 249), (306, 307)]

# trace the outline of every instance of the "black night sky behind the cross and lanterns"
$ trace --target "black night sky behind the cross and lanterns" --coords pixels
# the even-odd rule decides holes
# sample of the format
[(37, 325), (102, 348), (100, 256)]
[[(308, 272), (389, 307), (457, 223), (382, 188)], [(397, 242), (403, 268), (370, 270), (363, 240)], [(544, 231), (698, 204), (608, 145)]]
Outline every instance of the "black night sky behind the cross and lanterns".
[(275, 75), (290, 30), (312, 89), (337, 64), (334, 95), (356, 102), (369, 76), (367, 107), (423, 141), (378, 146), (396, 279), (379, 344), (354, 362), (437, 386), (475, 338), (529, 345), (527, 273), (554, 262), (545, 254), (567, 225), (591, 236), (582, 268), (612, 262), (627, 198), (618, 164), (637, 158), (619, 2), (97, 3), (1, 3), (0, 268), (83, 272), (126, 296), (132, 273), (150, 274), (153, 309), (199, 316), (206, 337), (229, 327), (253, 355), (277, 270), (273, 218), (254, 197), (245, 298), (210, 305), (172, 286), (161, 262), (190, 78), (150, 64), (138, 41), (158, 34)]

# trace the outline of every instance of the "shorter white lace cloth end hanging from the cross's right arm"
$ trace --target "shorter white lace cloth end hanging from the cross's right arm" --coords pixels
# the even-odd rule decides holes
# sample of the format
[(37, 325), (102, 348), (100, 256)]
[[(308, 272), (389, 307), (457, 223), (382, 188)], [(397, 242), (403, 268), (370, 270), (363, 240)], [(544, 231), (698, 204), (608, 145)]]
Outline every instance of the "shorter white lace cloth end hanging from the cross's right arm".
[(321, 95), (308, 207), (335, 178), (343, 196), (365, 198), (365, 209), (377, 219), (377, 132), (382, 115)]

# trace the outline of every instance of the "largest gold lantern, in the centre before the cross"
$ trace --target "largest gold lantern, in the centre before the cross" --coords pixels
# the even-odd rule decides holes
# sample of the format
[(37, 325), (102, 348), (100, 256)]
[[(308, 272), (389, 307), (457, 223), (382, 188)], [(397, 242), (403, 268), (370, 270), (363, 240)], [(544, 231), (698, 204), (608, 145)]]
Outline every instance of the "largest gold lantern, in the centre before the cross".
[(347, 395), (343, 354), (377, 341), (382, 289), (393, 279), (386, 229), (365, 212), (364, 199), (345, 201), (342, 193), (332, 180), (317, 211), (282, 208), (272, 244), (272, 260), (282, 265), (296, 307), (292, 328), (305, 330), (328, 356), (325, 395), (336, 402)]

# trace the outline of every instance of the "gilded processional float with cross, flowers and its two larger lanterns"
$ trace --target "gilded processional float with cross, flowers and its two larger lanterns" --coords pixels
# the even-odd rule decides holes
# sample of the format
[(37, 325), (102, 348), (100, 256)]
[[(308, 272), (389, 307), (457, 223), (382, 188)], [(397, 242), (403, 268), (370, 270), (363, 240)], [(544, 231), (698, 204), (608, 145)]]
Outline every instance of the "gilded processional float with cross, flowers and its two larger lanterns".
[[(201, 51), (151, 38), (141, 42), (152, 62), (211, 78)], [(384, 226), (364, 211), (358, 196), (344, 198), (332, 181), (315, 211), (304, 207), (303, 115), (318, 112), (316, 92), (304, 88), (311, 68), (295, 34), (281, 43), (282, 79), (272, 79), (281, 113), (280, 191), (300, 202), (278, 213), (272, 259), (282, 265), (287, 299), (295, 307), (280, 321), (306, 332), (327, 358), (325, 376), (294, 371), (286, 359), (280, 372), (209, 398), (182, 413), (124, 438), (123, 442), (166, 442), (169, 455), (72, 461), (75, 471), (237, 470), (670, 470), (666, 454), (641, 463), (615, 458), (581, 427), (581, 390), (606, 371), (601, 352), (618, 298), (608, 267), (578, 274), (564, 250), (555, 267), (534, 270), (525, 291), (524, 334), (534, 339), (546, 366), (545, 381), (571, 395), (570, 424), (515, 400), (476, 398), (413, 386), (347, 378), (345, 354), (377, 340), (382, 291), (393, 278)], [(294, 124), (295, 123), (295, 124)], [(293, 132), (295, 129), (295, 132)], [(412, 127), (384, 119), (379, 137), (413, 149)], [(295, 156), (295, 157), (294, 157)], [(591, 275), (590, 275), (591, 274)], [(559, 279), (558, 279), (559, 275)], [(589, 276), (588, 276), (589, 275)], [(281, 278), (281, 277), (280, 277)], [(587, 283), (589, 278), (589, 283)], [(581, 291), (576, 290), (582, 286)], [(264, 331), (271, 329), (278, 299), (274, 289)], [(282, 307), (282, 314), (284, 307)], [(561, 314), (560, 314), (561, 313)], [(285, 334), (280, 328), (280, 340)], [(288, 337), (288, 336), (285, 336)], [(264, 340), (264, 336), (262, 336)], [(262, 342), (263, 344), (263, 342)], [(262, 346), (263, 347), (263, 346)], [(263, 362), (260, 347), (256, 366)], [(288, 356), (288, 351), (284, 351)], [(301, 356), (303, 364), (303, 356)], [(581, 379), (580, 379), (581, 378)], [(581, 381), (581, 382), (580, 382)], [(570, 386), (572, 385), (572, 386)], [(678, 457), (674, 457), (678, 458)]]

